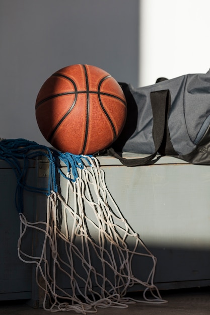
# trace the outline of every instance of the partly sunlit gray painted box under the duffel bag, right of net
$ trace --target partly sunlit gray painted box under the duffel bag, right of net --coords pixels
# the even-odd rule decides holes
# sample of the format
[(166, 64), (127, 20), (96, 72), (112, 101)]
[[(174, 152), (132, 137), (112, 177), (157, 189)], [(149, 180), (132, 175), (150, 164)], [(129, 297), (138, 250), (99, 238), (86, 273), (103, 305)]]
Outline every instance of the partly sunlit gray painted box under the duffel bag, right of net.
[(157, 257), (157, 286), (209, 285), (209, 167), (167, 156), (134, 168), (116, 165), (111, 157), (100, 163), (120, 210)]

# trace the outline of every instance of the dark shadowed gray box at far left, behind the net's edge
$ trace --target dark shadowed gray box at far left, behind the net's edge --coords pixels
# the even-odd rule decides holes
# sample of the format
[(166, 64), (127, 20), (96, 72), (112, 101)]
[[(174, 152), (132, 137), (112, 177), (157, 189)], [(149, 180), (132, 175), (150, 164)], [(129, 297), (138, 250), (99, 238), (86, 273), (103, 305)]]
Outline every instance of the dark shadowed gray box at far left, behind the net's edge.
[[(32, 185), (35, 176), (35, 161), (30, 161), (28, 183)], [(20, 235), (19, 214), (15, 206), (17, 186), (16, 175), (11, 166), (0, 160), (0, 300), (30, 299), (32, 286), (32, 266), (18, 258), (17, 242)], [(36, 196), (25, 193), (25, 211), (29, 218), (36, 218)], [(27, 251), (32, 254), (32, 235), (29, 233), (25, 242)]]

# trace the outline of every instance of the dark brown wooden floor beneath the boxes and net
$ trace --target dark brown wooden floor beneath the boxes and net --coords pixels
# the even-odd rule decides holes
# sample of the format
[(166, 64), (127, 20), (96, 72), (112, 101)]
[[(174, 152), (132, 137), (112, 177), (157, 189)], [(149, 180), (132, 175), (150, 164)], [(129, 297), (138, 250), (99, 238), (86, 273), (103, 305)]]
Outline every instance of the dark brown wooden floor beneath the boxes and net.
[[(168, 303), (150, 305), (136, 303), (128, 308), (98, 308), (98, 315), (210, 315), (210, 288), (195, 288), (187, 290), (162, 291), (162, 298)], [(134, 296), (135, 297), (135, 296)], [(57, 312), (58, 314), (64, 312)], [(57, 314), (56, 313), (56, 314)], [(0, 301), (1, 315), (46, 315), (48, 311), (34, 309), (27, 305), (26, 301)], [(67, 314), (76, 314), (69, 311)]]

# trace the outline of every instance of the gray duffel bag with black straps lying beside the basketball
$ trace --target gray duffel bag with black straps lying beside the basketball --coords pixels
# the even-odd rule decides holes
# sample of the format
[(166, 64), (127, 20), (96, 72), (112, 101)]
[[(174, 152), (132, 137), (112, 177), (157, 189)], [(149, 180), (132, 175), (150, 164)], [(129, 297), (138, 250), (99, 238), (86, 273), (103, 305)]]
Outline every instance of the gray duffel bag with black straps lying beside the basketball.
[[(106, 154), (124, 165), (153, 163), (157, 153), (210, 165), (210, 70), (141, 88), (120, 83), (127, 100), (125, 126)], [(126, 160), (122, 152), (146, 153)]]

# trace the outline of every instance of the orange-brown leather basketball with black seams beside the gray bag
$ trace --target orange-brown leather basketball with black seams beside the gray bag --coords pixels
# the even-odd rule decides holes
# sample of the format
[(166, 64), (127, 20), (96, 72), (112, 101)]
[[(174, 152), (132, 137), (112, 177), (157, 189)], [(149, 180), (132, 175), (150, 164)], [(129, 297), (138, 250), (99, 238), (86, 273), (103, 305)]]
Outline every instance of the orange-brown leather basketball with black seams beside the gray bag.
[(93, 65), (75, 64), (53, 73), (36, 99), (36, 120), (56, 149), (94, 154), (109, 147), (125, 123), (127, 107), (117, 81)]

